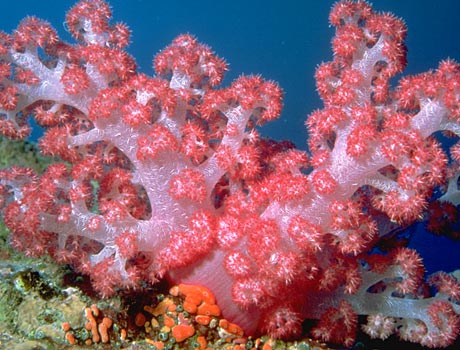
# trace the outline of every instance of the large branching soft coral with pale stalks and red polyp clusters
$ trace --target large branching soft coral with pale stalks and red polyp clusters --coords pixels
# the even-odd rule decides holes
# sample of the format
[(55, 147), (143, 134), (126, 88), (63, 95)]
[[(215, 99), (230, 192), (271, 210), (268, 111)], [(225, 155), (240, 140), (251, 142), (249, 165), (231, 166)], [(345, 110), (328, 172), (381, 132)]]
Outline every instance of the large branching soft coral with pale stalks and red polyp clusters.
[(103, 296), (160, 278), (205, 286), (247, 334), (293, 338), (318, 319), (313, 337), (349, 346), (366, 315), (374, 338), (455, 341), (455, 277), (425, 280), (416, 251), (374, 247), (421, 217), (435, 188), (446, 193), (433, 215), (458, 205), (459, 64), (393, 88), (404, 24), (363, 1), (337, 3), (307, 155), (255, 129), (280, 114), (276, 83), (218, 87), (225, 61), (191, 35), (155, 57), (155, 77), (138, 73), (123, 50), (129, 30), (110, 16), (101, 0), (75, 5), (76, 44), (35, 17), (0, 35), (0, 130), (24, 138), (33, 116), (42, 152), (62, 160), (41, 176), (1, 171), (16, 249), (73, 265)]

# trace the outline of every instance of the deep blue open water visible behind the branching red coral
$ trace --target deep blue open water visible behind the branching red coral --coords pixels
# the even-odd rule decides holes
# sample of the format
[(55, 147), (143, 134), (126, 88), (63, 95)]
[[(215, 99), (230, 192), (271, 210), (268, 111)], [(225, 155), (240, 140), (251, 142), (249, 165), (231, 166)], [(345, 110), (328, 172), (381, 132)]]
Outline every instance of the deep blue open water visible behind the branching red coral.
[[(140, 71), (153, 74), (152, 58), (180, 33), (191, 33), (230, 64), (224, 84), (240, 74), (261, 74), (277, 81), (285, 92), (282, 116), (263, 128), (275, 139), (290, 139), (306, 149), (304, 120), (321, 107), (313, 74), (331, 59), (333, 29), (328, 13), (334, 1), (151, 1), (112, 0), (115, 21), (132, 30), (128, 51)], [(0, 11), (0, 28), (13, 30), (26, 15), (51, 22), (66, 40), (63, 21), (74, 1), (9, 1)], [(408, 26), (406, 74), (436, 68), (447, 57), (460, 61), (460, 1), (378, 0), (374, 8), (390, 11)], [(6, 10), (6, 7), (8, 9)], [(34, 136), (35, 138), (37, 135)], [(459, 244), (431, 235), (416, 235), (429, 271), (459, 268)]]

